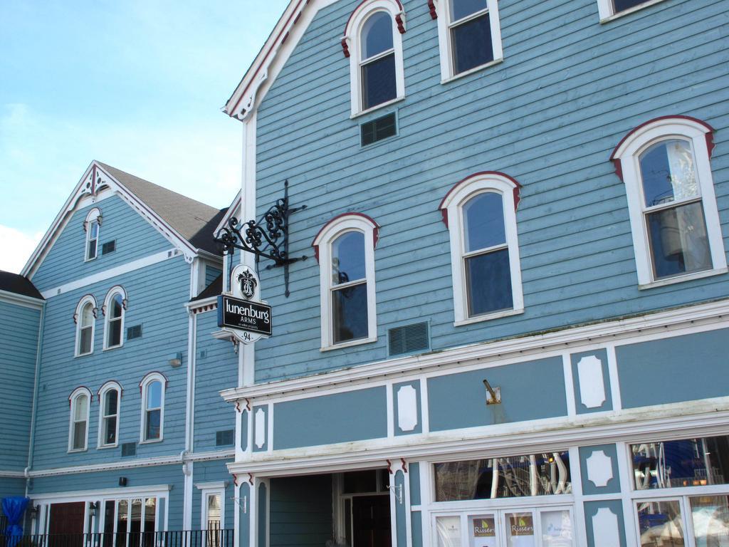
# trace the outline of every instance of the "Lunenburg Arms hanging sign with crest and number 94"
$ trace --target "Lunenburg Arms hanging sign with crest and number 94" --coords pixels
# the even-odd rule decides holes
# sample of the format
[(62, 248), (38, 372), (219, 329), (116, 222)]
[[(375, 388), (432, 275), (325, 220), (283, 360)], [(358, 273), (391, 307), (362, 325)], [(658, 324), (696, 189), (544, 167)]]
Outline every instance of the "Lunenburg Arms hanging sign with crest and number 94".
[(260, 283), (255, 271), (239, 264), (230, 274), (232, 294), (218, 297), (218, 326), (243, 344), (271, 335), (271, 307), (260, 300)]

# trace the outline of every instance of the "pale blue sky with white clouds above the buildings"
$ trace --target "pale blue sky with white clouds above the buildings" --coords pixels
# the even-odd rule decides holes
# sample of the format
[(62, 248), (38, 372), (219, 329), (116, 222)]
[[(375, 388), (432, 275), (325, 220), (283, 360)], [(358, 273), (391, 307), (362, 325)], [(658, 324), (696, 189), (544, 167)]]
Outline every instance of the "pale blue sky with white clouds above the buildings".
[(222, 106), (287, 0), (0, 0), (0, 270), (20, 272), (92, 160), (225, 207)]

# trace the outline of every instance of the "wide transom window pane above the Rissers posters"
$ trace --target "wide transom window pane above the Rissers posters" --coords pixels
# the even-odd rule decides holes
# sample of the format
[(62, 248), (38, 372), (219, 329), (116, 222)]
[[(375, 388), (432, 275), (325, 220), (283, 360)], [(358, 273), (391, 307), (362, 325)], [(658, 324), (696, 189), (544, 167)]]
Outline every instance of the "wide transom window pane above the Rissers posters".
[(435, 500), (439, 502), (571, 492), (566, 451), (435, 464)]

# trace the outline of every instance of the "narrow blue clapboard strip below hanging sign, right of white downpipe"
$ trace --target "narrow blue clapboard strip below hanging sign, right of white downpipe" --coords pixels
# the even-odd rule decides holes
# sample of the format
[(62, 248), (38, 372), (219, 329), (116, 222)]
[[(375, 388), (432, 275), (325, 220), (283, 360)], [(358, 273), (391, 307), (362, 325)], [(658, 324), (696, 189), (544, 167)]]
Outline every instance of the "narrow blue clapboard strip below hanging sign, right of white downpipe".
[[(238, 381), (238, 355), (229, 341), (211, 336), (217, 311), (197, 314), (195, 363), (195, 451), (215, 449), (215, 432), (235, 428), (235, 410), (220, 397), (220, 390)], [(233, 448), (229, 446), (227, 448)]]

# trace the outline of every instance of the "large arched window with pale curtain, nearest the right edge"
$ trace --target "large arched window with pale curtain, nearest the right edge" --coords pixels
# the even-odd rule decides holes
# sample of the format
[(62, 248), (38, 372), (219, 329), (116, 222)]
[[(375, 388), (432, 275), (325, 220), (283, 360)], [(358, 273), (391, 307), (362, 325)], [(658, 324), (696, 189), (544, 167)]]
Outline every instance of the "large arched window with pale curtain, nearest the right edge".
[(628, 195), (642, 286), (726, 270), (709, 164), (711, 136), (700, 120), (666, 117), (631, 131), (613, 152)]

